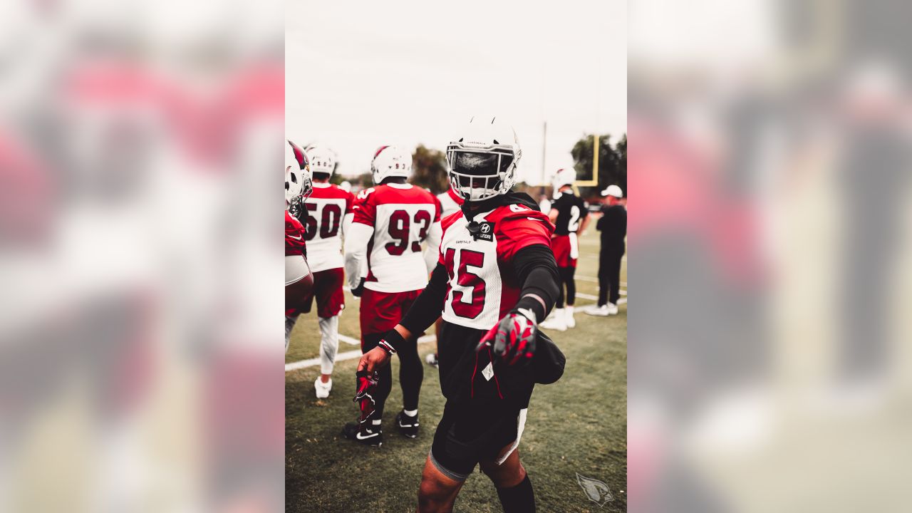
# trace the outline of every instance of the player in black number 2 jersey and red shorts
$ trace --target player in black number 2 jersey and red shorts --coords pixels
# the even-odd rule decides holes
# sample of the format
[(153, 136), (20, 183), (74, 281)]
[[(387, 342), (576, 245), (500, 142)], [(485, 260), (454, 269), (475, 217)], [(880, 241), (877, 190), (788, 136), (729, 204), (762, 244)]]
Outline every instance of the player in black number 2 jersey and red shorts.
[[(574, 194), (573, 184), (576, 181), (576, 171), (573, 168), (564, 168), (554, 173), (554, 203), (548, 218), (554, 223), (554, 235), (551, 247), (554, 249), (554, 259), (561, 277), (560, 294), (557, 296), (557, 306), (554, 308), (553, 317), (542, 323), (542, 328), (548, 330), (564, 331), (576, 326), (573, 317), (573, 307), (576, 301), (576, 259), (579, 258), (578, 234), (586, 230), (589, 223), (589, 211), (583, 198)], [(564, 290), (566, 289), (566, 295)], [(566, 308), (564, 301), (566, 298)]]

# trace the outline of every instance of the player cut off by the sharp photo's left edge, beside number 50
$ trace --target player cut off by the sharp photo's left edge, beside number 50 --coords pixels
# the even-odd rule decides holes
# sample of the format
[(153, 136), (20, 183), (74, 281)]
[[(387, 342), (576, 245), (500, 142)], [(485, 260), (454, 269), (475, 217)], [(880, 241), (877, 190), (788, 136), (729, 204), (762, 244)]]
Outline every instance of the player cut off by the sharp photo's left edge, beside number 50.
[(304, 200), (314, 188), (310, 165), (303, 150), (292, 141), (288, 144), (295, 153), (299, 169), (285, 167), (285, 352), (288, 352), (288, 340), (295, 327), (296, 317), (291, 314), (301, 307), (314, 285), (313, 274), (307, 267), (306, 228), (301, 223), (307, 215)]

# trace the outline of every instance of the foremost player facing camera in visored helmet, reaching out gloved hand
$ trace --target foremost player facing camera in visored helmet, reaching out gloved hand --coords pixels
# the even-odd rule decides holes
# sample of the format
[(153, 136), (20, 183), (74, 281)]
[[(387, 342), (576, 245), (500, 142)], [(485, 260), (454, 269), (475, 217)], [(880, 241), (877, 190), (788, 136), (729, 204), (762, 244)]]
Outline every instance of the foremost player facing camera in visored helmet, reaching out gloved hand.
[[(440, 389), (447, 402), (425, 461), (419, 511), (450, 511), (480, 465), (504, 511), (535, 510), (517, 446), (532, 395), (536, 323), (557, 297), (554, 226), (527, 194), (511, 192), (521, 152), (513, 129), (473, 119), (447, 147), (453, 191), (465, 203), (443, 220), (437, 266), (407, 315), (358, 362), (388, 366), (443, 316)], [(523, 381), (523, 376), (526, 380)]]

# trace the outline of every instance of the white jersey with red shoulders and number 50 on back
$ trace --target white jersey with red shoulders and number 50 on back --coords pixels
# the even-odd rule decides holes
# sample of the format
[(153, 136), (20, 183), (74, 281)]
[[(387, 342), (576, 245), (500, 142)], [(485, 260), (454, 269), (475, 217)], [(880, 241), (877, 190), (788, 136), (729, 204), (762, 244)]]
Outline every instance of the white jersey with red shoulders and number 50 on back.
[(351, 223), (353, 204), (354, 196), (337, 185), (314, 183), (314, 192), (304, 203), (304, 225), (307, 263), (315, 273), (343, 266), (342, 234)]

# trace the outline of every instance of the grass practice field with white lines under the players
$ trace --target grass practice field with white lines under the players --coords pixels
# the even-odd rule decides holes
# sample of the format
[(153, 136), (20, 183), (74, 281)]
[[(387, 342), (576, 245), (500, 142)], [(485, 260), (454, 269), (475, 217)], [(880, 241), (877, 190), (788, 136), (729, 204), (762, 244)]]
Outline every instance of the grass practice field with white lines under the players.
[[(565, 374), (554, 384), (535, 388), (519, 446), (538, 510), (545, 512), (627, 510), (627, 305), (620, 305), (620, 313), (607, 318), (579, 311), (595, 303), (598, 293), (594, 224), (588, 232), (581, 237), (576, 270), (576, 328), (548, 331), (567, 357)], [(621, 269), (625, 290), (626, 281), (625, 260)], [(340, 354), (359, 350), (349, 343), (359, 337), (359, 303), (346, 293), (346, 305), (339, 332), (348, 342), (340, 340)], [(316, 312), (303, 315), (285, 357), (285, 510), (413, 512), (421, 469), (443, 412), (437, 370), (424, 366), (421, 431), (412, 440), (399, 435), (393, 425), (402, 407), (399, 361), (393, 359), (384, 442), (381, 447), (367, 447), (341, 435), (342, 425), (358, 415), (352, 403), (358, 360), (338, 361), (332, 393), (326, 400), (317, 400), (314, 380), (319, 364), (309, 360), (318, 357), (318, 348)], [(433, 340), (420, 344), (421, 360), (433, 350)], [(590, 501), (577, 483), (577, 474), (606, 483), (613, 500), (601, 508)], [(462, 487), (455, 511), (502, 511), (491, 481), (477, 467)]]

